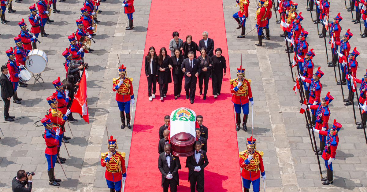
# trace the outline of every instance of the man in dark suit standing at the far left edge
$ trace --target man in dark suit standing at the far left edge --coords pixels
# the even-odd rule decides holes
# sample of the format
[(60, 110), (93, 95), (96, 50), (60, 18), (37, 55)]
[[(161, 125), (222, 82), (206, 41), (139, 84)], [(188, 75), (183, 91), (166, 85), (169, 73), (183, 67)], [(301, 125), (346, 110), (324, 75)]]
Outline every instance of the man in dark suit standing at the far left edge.
[(9, 107), (10, 107), (10, 98), (14, 94), (13, 84), (10, 82), (10, 78), (8, 76), (8, 67), (6, 65), (1, 66), (1, 76), (0, 76), (0, 85), (1, 85), (1, 98), (3, 99), (4, 105), (4, 118), (6, 121), (11, 122), (14, 121), (14, 116), (9, 116)]

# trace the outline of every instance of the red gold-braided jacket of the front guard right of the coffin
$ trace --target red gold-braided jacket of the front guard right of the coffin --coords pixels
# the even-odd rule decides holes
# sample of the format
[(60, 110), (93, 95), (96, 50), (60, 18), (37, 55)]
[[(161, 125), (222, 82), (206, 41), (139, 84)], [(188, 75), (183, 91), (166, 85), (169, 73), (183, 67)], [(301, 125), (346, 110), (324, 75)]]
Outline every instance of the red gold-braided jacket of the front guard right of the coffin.
[(242, 167), (241, 177), (255, 181), (260, 178), (261, 175), (265, 175), (264, 164), (262, 163), (262, 155), (264, 154), (262, 151), (254, 151), (252, 159), (249, 161), (247, 160), (248, 155), (250, 153), (245, 150), (243, 151), (244, 154), (240, 155), (240, 167)]

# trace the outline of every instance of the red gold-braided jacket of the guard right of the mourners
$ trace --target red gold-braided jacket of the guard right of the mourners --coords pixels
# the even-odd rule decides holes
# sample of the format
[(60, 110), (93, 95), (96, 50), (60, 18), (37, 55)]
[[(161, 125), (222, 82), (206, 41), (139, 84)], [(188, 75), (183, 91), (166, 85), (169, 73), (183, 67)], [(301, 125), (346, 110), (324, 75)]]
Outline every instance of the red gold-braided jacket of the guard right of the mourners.
[[(230, 80), (230, 93), (232, 93), (232, 102), (239, 105), (247, 104), (248, 101), (252, 101), (251, 92), (251, 80), (243, 78), (241, 87), (237, 90), (237, 85), (239, 83), (238, 79)], [(246, 87), (248, 87), (246, 89)]]

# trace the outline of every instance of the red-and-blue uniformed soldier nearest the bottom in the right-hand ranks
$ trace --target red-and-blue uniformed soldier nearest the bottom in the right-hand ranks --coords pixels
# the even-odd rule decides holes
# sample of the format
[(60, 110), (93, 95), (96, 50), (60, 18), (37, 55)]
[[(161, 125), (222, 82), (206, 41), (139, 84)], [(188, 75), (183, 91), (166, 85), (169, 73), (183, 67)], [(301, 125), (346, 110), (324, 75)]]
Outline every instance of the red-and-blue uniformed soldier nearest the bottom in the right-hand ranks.
[(342, 125), (334, 119), (333, 127), (327, 131), (321, 131), (314, 129), (316, 133), (327, 136), (324, 151), (322, 153), (322, 158), (325, 161), (326, 166), (326, 177), (322, 178), (324, 181), (323, 185), (330, 185), (333, 183), (333, 160), (335, 159), (335, 154), (337, 153), (339, 137), (338, 132), (342, 128)]

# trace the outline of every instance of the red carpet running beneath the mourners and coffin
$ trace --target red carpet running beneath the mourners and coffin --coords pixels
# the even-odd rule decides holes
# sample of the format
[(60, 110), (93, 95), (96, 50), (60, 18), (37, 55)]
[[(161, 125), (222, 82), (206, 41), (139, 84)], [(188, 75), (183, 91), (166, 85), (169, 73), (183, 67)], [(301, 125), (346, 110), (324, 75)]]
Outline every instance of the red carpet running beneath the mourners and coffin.
[[(201, 33), (208, 31), (209, 37), (214, 39), (215, 48), (222, 48), (222, 55), (226, 58), (227, 73), (223, 78), (221, 95), (214, 99), (210, 80), (205, 101), (202, 95), (199, 95), (199, 86), (197, 86), (195, 103), (190, 104), (189, 99), (185, 99), (183, 85), (181, 97), (175, 100), (172, 81), (164, 102), (159, 100), (159, 84), (157, 84), (156, 98), (149, 101), (143, 59), (125, 191), (162, 190), (161, 173), (158, 170), (158, 130), (164, 124), (163, 117), (170, 115), (179, 107), (187, 107), (195, 111), (196, 115), (203, 115), (203, 124), (208, 127), (209, 164), (204, 172), (205, 191), (242, 191), (229, 85), (228, 48), (222, 0), (201, 0), (200, 2), (152, 0), (144, 55), (148, 53), (151, 46), (155, 47), (156, 51), (161, 47), (166, 47), (168, 50), (174, 31), (178, 31), (180, 39), (184, 41), (186, 35), (192, 35), (196, 43), (202, 39)], [(170, 54), (170, 51), (168, 53)], [(200, 55), (199, 52), (197, 54)], [(185, 168), (186, 157), (180, 158), (180, 161), (182, 169), (179, 170), (178, 191), (189, 191), (188, 168)]]

